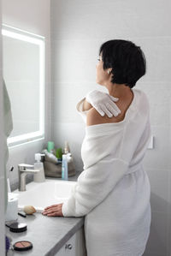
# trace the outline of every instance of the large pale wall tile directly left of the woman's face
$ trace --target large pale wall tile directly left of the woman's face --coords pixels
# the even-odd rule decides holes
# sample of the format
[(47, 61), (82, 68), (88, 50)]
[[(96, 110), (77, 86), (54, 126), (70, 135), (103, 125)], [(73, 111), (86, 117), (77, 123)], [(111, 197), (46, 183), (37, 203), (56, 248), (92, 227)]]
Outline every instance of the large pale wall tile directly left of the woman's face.
[[(53, 38), (52, 38), (53, 39)], [(100, 40), (53, 40), (53, 82), (95, 83)]]

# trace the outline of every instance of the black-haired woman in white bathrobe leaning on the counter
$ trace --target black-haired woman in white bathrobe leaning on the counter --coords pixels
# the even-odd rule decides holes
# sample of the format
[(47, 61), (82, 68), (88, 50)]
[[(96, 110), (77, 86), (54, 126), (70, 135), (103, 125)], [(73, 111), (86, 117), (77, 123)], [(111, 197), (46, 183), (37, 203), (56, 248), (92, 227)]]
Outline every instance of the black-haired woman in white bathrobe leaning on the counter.
[(109, 94), (93, 91), (78, 104), (86, 117), (84, 171), (68, 201), (43, 214), (85, 216), (88, 256), (140, 256), (150, 233), (150, 182), (142, 165), (150, 110), (144, 92), (133, 86), (145, 74), (145, 58), (126, 40), (105, 42), (99, 56), (97, 83)]

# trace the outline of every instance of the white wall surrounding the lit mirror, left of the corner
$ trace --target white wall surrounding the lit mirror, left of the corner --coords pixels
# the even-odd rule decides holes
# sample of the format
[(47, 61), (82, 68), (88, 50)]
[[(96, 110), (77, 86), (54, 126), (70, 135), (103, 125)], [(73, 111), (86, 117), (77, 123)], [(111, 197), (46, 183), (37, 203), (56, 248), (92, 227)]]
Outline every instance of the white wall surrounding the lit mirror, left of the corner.
[(3, 23), (45, 37), (45, 140), (9, 149), (8, 168), (15, 166), (9, 174), (13, 184), (18, 181), (17, 165), (33, 164), (34, 153), (50, 140), (50, 0), (3, 0)]

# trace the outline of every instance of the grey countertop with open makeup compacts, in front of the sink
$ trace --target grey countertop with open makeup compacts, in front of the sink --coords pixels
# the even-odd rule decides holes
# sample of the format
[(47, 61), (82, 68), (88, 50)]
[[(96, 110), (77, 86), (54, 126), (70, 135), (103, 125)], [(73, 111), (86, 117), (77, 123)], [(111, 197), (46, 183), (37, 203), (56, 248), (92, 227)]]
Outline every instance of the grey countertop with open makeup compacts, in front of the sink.
[(19, 216), (18, 222), (27, 223), (27, 231), (13, 233), (6, 227), (6, 235), (12, 238), (12, 244), (27, 240), (33, 247), (27, 252), (14, 251), (12, 255), (53, 256), (83, 226), (84, 217), (47, 217), (34, 213)]

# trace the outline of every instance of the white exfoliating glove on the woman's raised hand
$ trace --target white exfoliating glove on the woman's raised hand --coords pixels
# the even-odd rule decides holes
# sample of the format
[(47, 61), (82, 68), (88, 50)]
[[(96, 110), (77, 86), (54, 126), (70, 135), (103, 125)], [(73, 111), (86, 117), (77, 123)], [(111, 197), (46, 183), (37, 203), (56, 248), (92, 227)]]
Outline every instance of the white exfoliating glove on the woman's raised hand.
[(119, 98), (115, 98), (108, 93), (99, 92), (97, 90), (88, 92), (85, 97), (85, 100), (90, 103), (101, 116), (106, 114), (109, 117), (118, 116), (121, 113), (121, 110), (115, 104), (118, 99)]

